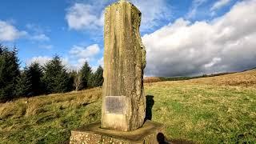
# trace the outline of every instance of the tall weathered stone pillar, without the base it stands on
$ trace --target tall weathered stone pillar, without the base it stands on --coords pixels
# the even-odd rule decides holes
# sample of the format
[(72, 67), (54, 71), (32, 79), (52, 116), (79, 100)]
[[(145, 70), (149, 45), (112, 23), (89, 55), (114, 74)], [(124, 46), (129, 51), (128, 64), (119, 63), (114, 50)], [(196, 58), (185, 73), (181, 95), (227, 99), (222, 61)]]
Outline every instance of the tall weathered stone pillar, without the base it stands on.
[[(139, 33), (141, 15), (134, 5), (126, 1), (106, 7), (102, 104), (104, 129), (136, 130), (144, 122), (146, 98), (142, 79), (146, 50)], [(114, 100), (114, 96), (118, 98)], [(112, 110), (114, 106), (110, 105), (117, 106), (118, 110)]]

